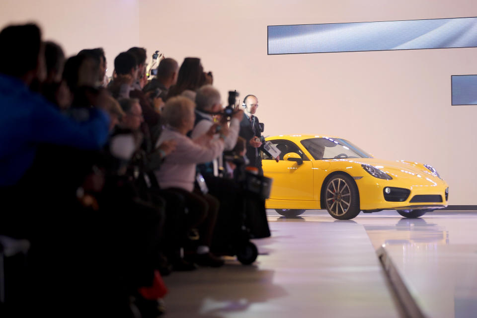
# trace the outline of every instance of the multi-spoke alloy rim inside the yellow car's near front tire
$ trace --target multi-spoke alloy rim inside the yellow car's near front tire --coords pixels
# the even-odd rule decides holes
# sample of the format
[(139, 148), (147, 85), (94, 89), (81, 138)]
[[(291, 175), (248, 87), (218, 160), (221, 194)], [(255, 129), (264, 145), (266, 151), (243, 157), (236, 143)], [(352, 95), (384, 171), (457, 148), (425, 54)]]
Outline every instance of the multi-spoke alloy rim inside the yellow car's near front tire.
[(336, 178), (326, 187), (326, 207), (333, 215), (345, 214), (351, 206), (351, 191), (345, 180)]

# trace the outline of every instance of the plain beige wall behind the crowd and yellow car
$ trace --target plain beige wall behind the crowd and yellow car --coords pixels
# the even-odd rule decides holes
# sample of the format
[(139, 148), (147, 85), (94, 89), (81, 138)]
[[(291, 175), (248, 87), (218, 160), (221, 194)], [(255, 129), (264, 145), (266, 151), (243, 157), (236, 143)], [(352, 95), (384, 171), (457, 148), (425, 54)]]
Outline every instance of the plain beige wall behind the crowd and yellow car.
[[(82, 5), (80, 5), (82, 4)], [(451, 75), (477, 48), (267, 56), (267, 25), (477, 16), (475, 0), (1, 0), (0, 24), (37, 21), (68, 54), (131, 46), (202, 59), (227, 99), (259, 98), (265, 134), (330, 134), (383, 159), (434, 165), (450, 204), (477, 204), (477, 106), (451, 106)]]

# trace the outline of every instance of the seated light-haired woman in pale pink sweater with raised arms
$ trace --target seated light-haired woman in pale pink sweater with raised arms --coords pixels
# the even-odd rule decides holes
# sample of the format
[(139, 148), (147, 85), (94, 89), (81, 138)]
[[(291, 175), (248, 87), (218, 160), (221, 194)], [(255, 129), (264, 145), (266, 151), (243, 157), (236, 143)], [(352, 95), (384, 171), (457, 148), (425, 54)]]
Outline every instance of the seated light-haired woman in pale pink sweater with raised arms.
[[(200, 239), (194, 261), (199, 265), (221, 266), (224, 261), (209, 251), (219, 210), (219, 201), (210, 194), (194, 189), (196, 164), (209, 162), (224, 151), (224, 140), (228, 134), (227, 125), (221, 126), (220, 138), (214, 138), (217, 125), (192, 140), (187, 133), (194, 128), (195, 103), (187, 97), (169, 98), (162, 110), (166, 123), (157, 142), (175, 140), (175, 151), (165, 157), (159, 170), (155, 171), (161, 189), (181, 194), (189, 209), (190, 228), (198, 228)], [(192, 220), (195, 219), (195, 220)]]

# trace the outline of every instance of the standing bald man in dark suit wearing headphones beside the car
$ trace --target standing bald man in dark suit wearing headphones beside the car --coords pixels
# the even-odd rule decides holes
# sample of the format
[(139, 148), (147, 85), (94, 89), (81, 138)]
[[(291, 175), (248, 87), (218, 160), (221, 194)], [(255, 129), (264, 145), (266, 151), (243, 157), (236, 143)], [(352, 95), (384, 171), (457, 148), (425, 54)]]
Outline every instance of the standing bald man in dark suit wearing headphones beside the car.
[(239, 136), (245, 139), (247, 143), (246, 157), (249, 161), (248, 166), (256, 167), (258, 174), (263, 175), (260, 151), (264, 151), (267, 154), (268, 152), (263, 149), (263, 124), (255, 116), (258, 108), (258, 98), (255, 95), (246, 95), (243, 98), (242, 107), (244, 108), (244, 114), (240, 122)]

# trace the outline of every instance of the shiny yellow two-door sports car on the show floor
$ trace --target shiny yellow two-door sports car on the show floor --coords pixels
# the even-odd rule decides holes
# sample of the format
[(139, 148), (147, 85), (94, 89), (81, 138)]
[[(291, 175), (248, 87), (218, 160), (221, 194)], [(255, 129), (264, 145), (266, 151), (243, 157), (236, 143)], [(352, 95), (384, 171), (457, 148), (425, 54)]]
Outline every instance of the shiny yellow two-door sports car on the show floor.
[(335, 219), (395, 209), (407, 218), (447, 206), (449, 187), (428, 164), (375, 159), (341, 138), (280, 135), (266, 138), (280, 161), (261, 153), (273, 179), (268, 209), (292, 217), (326, 209)]

